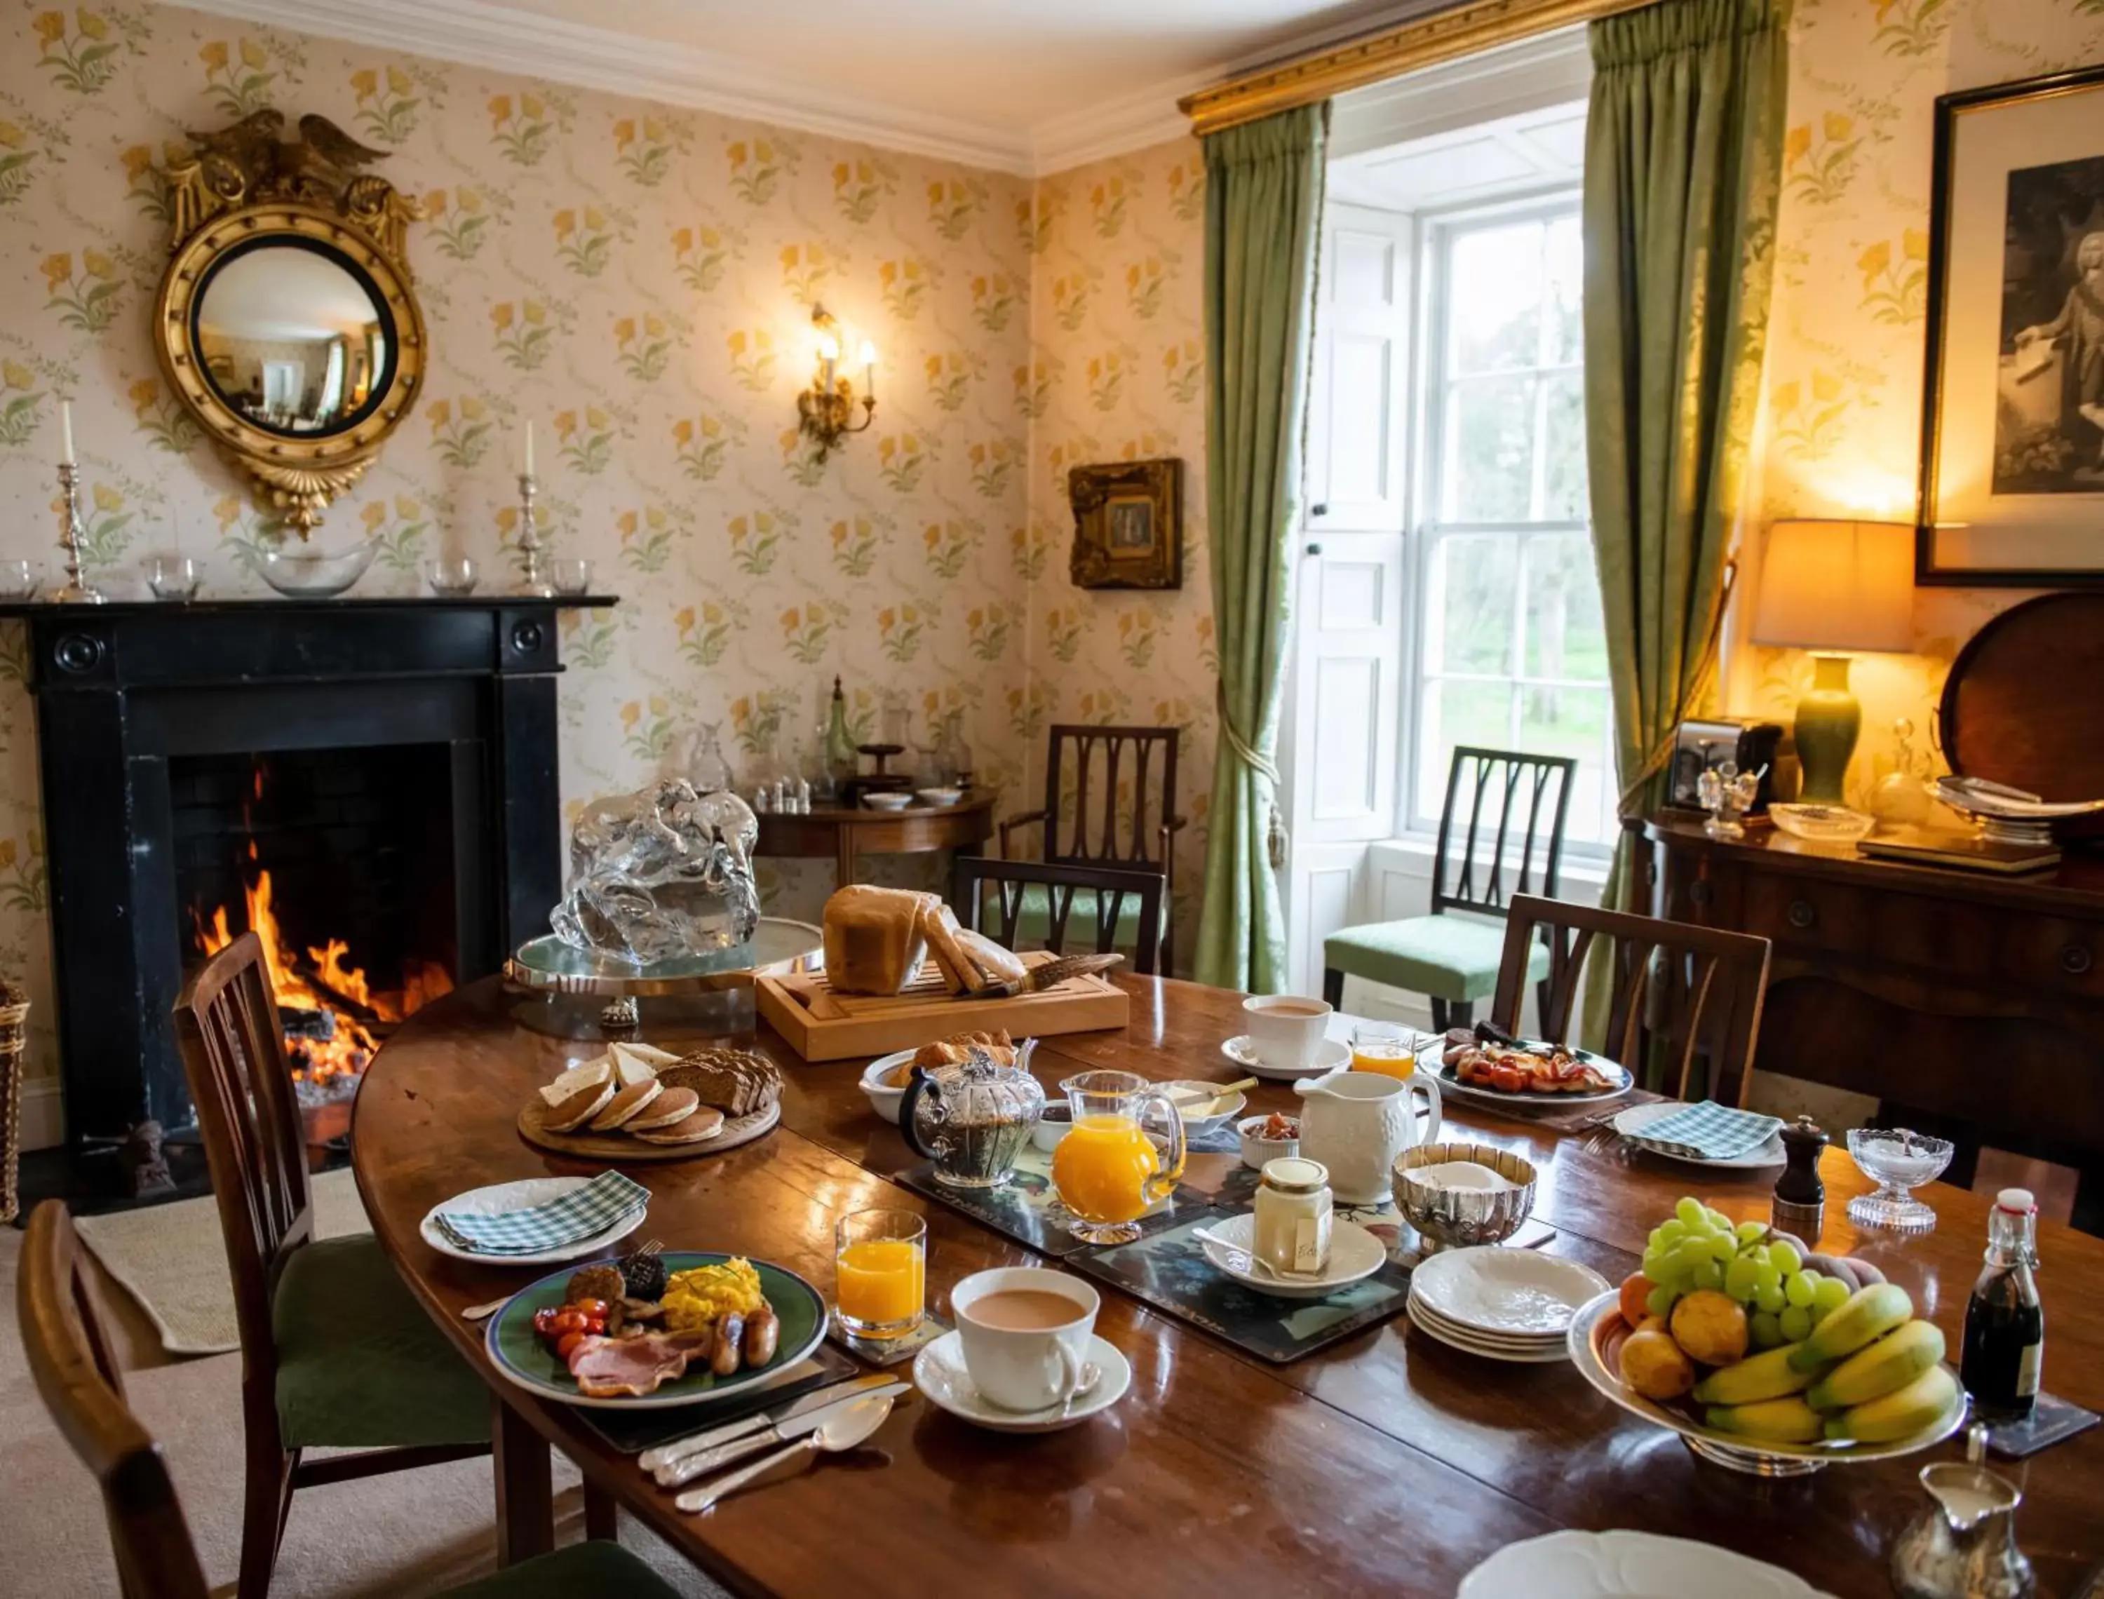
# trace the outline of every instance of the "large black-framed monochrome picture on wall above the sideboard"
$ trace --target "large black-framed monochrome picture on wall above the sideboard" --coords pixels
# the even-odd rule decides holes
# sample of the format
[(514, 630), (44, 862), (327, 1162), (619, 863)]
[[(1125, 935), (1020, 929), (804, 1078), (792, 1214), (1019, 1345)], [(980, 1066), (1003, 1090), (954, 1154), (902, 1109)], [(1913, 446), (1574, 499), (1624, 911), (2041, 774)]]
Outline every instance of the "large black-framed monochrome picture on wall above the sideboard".
[(2104, 65), (1936, 101), (1917, 583), (2104, 585)]

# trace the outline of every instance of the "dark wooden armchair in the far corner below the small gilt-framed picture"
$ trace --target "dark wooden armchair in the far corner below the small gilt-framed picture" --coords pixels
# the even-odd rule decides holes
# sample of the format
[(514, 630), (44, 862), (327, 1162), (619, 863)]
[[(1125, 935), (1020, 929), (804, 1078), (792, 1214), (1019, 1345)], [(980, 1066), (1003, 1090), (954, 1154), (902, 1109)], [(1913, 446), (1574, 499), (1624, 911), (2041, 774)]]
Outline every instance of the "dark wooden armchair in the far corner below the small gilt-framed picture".
[[(1044, 829), (1037, 858), (1048, 867), (1113, 867), (1161, 873), (1161, 970), (1174, 970), (1178, 728), (1115, 728), (1058, 722), (1046, 734), (1046, 802), (1002, 823), (1002, 856), (1018, 858), (1010, 839), (1025, 827)], [(1090, 903), (1084, 890), (1079, 903)], [(1134, 907), (1136, 915), (1136, 907)], [(1050, 900), (1025, 894), (1020, 926), (1044, 936)], [(1119, 926), (1119, 943), (1138, 943), (1138, 922)]]

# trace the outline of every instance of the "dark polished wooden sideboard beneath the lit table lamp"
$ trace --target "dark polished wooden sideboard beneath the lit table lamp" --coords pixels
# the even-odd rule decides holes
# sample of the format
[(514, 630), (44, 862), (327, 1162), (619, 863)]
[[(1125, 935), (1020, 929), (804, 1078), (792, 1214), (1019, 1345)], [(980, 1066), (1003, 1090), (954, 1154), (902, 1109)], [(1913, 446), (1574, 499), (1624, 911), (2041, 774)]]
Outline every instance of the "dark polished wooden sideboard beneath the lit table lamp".
[(1885, 1115), (2075, 1166), (2104, 1233), (2104, 856), (2009, 879), (1870, 861), (1774, 827), (1641, 825), (1652, 913), (1774, 943), (1757, 1071), (1875, 1094)]

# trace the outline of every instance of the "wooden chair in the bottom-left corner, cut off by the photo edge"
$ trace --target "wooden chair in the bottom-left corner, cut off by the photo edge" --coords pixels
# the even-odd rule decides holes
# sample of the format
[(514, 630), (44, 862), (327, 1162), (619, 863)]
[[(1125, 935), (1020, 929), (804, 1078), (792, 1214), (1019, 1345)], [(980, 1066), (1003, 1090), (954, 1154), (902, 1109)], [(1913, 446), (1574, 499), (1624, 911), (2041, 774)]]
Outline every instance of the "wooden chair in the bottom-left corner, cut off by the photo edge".
[[(80, 1237), (57, 1199), (46, 1199), (29, 1216), (15, 1311), (44, 1408), (103, 1490), (124, 1599), (208, 1599), (204, 1565), (168, 1462), (124, 1401), (124, 1376), (95, 1309)], [(36, 1586), (34, 1574), (19, 1576)], [(465, 1588), (448, 1588), (446, 1599), (610, 1593), (669, 1599), (675, 1591), (621, 1544), (591, 1540), (520, 1561)]]

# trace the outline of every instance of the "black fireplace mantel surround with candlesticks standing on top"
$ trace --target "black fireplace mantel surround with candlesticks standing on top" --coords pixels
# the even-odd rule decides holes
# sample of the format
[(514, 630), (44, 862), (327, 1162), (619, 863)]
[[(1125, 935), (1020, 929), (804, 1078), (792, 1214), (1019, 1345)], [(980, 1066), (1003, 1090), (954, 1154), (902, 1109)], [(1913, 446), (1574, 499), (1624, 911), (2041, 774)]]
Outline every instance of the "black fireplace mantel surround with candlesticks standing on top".
[[(185, 943), (168, 762), (450, 749), (461, 980), (562, 892), (555, 612), (537, 600), (6, 604), (29, 633), (67, 1138), (194, 1121), (170, 1008)], [(471, 804), (461, 806), (461, 795)], [(356, 871), (347, 861), (345, 869)]]

